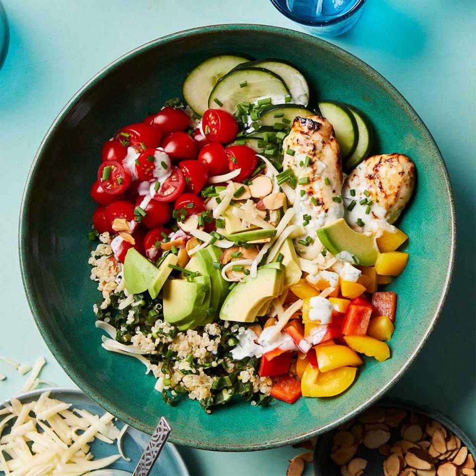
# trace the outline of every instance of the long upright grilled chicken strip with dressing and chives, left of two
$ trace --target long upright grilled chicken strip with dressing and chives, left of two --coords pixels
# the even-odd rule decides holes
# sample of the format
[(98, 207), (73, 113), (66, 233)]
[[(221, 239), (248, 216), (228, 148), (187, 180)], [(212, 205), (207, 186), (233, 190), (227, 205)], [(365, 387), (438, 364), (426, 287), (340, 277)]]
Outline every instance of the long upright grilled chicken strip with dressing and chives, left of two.
[[(305, 230), (305, 235), (296, 239), (296, 249), (301, 257), (314, 259), (322, 248), (316, 230), (344, 216), (344, 205), (335, 198), (341, 194), (344, 178), (334, 128), (320, 116), (297, 117), (283, 149), (283, 169), (290, 167), (298, 181), (307, 180), (296, 187), (294, 224)], [(312, 239), (308, 246), (297, 242), (306, 237)]]

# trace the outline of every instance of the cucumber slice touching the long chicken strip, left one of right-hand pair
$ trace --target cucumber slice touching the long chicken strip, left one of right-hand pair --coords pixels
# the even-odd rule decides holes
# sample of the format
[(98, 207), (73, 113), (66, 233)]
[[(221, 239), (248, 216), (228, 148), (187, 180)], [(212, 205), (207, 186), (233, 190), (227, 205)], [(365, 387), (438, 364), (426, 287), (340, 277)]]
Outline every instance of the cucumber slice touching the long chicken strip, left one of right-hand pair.
[(322, 117), (334, 127), (342, 159), (347, 159), (356, 149), (358, 142), (358, 127), (354, 115), (344, 104), (334, 101), (319, 103)]

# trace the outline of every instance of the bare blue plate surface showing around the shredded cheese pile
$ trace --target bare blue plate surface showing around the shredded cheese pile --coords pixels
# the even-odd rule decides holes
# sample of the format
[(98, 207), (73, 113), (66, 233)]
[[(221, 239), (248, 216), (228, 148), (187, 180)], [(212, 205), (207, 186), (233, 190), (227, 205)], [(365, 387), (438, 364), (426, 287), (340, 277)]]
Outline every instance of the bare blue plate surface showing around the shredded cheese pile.
[[(50, 396), (66, 403), (71, 403), (72, 408), (86, 410), (93, 415), (103, 415), (105, 411), (96, 405), (80, 390), (73, 388), (41, 388), (32, 392), (24, 393), (16, 398), (22, 403), (28, 403), (38, 399), (38, 397), (46, 391), (50, 391)], [(4, 407), (4, 403), (0, 408)], [(119, 420), (115, 421), (116, 426), (120, 429), (123, 423)], [(128, 471), (132, 473), (137, 465), (137, 461), (144, 448), (149, 442), (150, 436), (142, 433), (135, 428), (129, 427), (122, 437), (122, 451), (124, 455), (131, 459), (130, 463), (122, 458), (116, 461), (111, 468)], [(118, 454), (117, 445), (110, 445), (98, 439), (91, 443), (91, 452), (95, 459), (105, 458), (112, 454)], [(150, 476), (190, 476), (185, 463), (183, 462), (177, 448), (172, 443), (166, 443), (159, 459), (154, 465)]]

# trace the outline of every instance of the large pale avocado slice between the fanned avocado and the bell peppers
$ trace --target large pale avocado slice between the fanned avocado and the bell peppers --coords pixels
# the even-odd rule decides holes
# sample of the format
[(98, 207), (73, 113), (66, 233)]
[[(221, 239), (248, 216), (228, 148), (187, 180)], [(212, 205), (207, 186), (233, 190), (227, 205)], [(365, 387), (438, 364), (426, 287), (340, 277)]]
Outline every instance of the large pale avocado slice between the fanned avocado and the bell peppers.
[(247, 276), (225, 299), (220, 319), (236, 322), (253, 322), (257, 312), (270, 297), (282, 291), (283, 272), (274, 267), (258, 269), (256, 278)]

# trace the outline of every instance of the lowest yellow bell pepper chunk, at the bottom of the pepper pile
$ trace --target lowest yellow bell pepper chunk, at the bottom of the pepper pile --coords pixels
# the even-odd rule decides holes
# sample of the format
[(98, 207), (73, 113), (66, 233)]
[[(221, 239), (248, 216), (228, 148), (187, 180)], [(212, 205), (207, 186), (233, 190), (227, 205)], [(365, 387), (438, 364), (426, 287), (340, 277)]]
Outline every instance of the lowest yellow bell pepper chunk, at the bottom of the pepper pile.
[(302, 395), (304, 397), (334, 397), (352, 385), (356, 374), (356, 367), (339, 367), (328, 372), (319, 372), (317, 368), (312, 368), (308, 364), (301, 379)]

